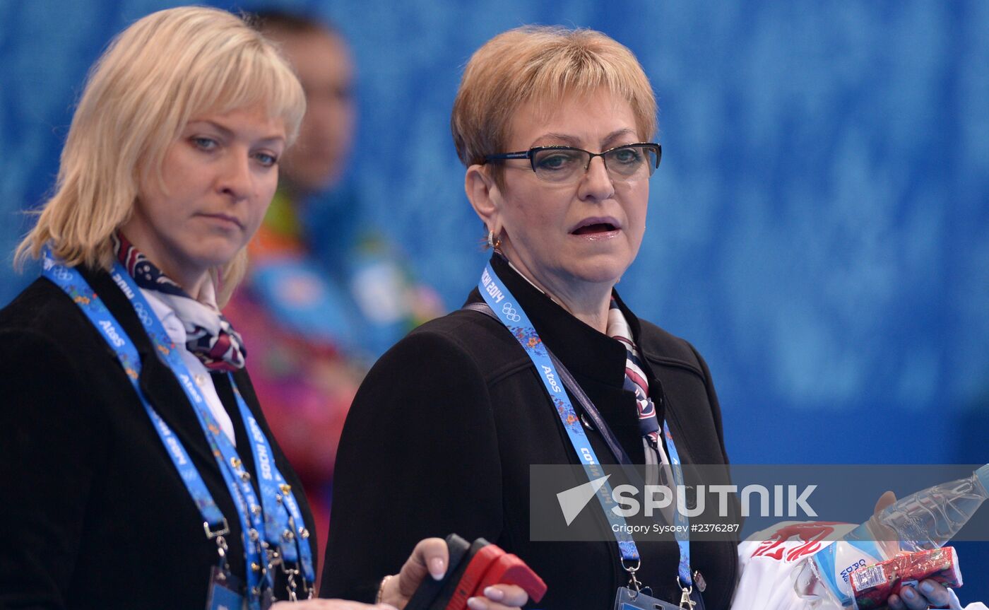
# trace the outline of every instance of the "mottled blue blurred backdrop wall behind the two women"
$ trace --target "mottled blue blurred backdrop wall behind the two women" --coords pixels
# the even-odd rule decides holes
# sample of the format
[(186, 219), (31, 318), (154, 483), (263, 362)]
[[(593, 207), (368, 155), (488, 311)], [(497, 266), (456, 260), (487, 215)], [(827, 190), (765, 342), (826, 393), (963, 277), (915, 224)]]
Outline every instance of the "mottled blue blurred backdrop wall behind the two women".
[[(89, 65), (177, 4), (0, 0), (0, 251), (44, 201)], [(486, 257), (449, 135), (464, 63), (530, 23), (628, 46), (658, 94), (664, 155), (619, 289), (707, 358), (731, 457), (989, 461), (989, 3), (263, 6), (324, 17), (349, 40), (348, 184), (448, 308)], [(9, 262), (0, 304), (33, 276)], [(989, 544), (958, 548), (962, 598), (989, 599)]]

